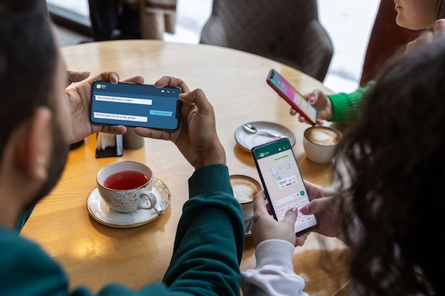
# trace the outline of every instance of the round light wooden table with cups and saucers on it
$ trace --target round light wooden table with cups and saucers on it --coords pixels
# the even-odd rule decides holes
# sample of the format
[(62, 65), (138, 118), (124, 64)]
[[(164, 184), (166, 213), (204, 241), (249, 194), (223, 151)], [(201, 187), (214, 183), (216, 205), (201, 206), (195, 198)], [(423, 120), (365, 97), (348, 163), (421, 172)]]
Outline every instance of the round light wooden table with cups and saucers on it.
[[(122, 80), (142, 75), (146, 83), (168, 75), (180, 77), (190, 89), (203, 89), (215, 108), (218, 135), (231, 175), (259, 180), (250, 152), (237, 144), (234, 133), (248, 121), (271, 121), (294, 132), (294, 153), (303, 177), (319, 185), (331, 185), (331, 165), (316, 165), (304, 155), (302, 135), (308, 126), (289, 115), (289, 105), (265, 80), (269, 69), (274, 68), (303, 93), (316, 88), (328, 93), (330, 90), (291, 67), (238, 50), (157, 40), (86, 43), (62, 48), (62, 53), (69, 70), (87, 70), (92, 75), (116, 71)], [(97, 171), (119, 160), (146, 163), (155, 177), (168, 186), (171, 204), (159, 219), (132, 229), (116, 229), (90, 217), (87, 197), (96, 187)], [(86, 285), (97, 291), (111, 281), (132, 288), (160, 281), (171, 258), (192, 172), (191, 165), (171, 142), (146, 138), (144, 148), (125, 150), (118, 158), (96, 159), (95, 136), (90, 136), (85, 145), (70, 152), (60, 182), (36, 206), (22, 234), (38, 241), (65, 266), (73, 286)], [(324, 250), (335, 257), (331, 261), (334, 268), (326, 264)], [(341, 287), (348, 278), (343, 261), (337, 257), (345, 254), (340, 241), (317, 234), (311, 234), (303, 247), (296, 248), (294, 268), (307, 279), (306, 291), (343, 295), (345, 289)], [(247, 237), (241, 270), (254, 267), (252, 238)]]

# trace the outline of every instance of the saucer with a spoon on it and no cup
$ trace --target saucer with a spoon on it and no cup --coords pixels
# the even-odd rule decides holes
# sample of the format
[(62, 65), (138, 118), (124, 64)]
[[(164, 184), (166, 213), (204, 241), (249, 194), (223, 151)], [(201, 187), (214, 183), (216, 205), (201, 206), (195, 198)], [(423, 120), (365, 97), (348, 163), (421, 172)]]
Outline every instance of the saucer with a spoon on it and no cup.
[[(275, 124), (274, 122), (269, 121), (253, 121), (249, 122), (248, 124), (252, 124), (252, 126), (257, 128), (258, 131), (269, 131), (271, 133), (278, 133), (280, 136), (289, 138), (291, 146), (295, 145), (295, 135), (289, 128), (286, 128), (286, 126)], [(255, 146), (277, 140), (277, 138), (274, 138), (272, 136), (264, 136), (264, 134), (259, 133), (249, 133), (248, 131), (245, 131), (242, 126), (239, 126), (235, 130), (235, 140), (238, 144), (240, 144), (242, 148), (250, 151)]]

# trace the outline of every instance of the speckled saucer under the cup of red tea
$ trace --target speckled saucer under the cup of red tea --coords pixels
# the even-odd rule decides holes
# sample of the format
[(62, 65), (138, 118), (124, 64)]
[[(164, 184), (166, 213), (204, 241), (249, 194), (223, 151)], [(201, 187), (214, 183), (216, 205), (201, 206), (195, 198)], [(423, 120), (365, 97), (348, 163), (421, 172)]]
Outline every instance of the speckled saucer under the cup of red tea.
[[(170, 204), (171, 198), (168, 187), (161, 180), (154, 177), (152, 192), (156, 194), (159, 206), (165, 210), (168, 204)], [(101, 224), (115, 228), (141, 226), (156, 220), (160, 216), (154, 209), (137, 209), (130, 213), (116, 212), (108, 207), (97, 187), (88, 196), (87, 207), (93, 219)]]

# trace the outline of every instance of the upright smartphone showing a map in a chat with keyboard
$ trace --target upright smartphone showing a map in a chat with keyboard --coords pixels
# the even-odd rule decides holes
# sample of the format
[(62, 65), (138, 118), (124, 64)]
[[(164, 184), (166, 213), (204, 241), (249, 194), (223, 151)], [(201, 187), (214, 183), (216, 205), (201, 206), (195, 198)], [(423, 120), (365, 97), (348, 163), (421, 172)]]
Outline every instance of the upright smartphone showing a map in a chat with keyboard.
[[(289, 138), (256, 146), (252, 148), (252, 155), (274, 219), (282, 221), (289, 209), (301, 209), (309, 204), (311, 199)], [(295, 222), (295, 235), (301, 236), (317, 226), (314, 214), (304, 215), (299, 212)]]

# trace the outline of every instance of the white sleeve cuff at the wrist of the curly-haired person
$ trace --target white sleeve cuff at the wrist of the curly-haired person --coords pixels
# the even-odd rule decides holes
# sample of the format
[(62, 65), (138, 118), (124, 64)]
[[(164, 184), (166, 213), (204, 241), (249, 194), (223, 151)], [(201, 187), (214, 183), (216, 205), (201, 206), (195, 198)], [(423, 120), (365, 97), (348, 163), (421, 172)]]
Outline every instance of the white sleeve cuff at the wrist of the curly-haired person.
[(255, 250), (257, 268), (241, 273), (244, 296), (295, 295), (308, 296), (304, 280), (294, 273), (294, 246), (288, 241), (271, 239), (259, 243)]

